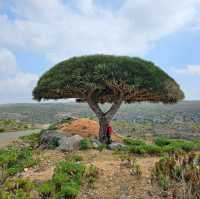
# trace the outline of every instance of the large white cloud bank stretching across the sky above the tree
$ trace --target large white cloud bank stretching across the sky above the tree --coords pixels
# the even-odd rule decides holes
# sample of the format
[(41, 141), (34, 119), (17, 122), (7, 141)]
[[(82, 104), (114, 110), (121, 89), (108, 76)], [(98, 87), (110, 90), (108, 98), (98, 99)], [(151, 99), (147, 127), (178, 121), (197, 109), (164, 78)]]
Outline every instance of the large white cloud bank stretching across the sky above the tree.
[(199, 0), (126, 0), (118, 10), (95, 0), (13, 0), (15, 20), (0, 16), (0, 44), (37, 51), (52, 62), (94, 54), (141, 55), (153, 42), (180, 30), (197, 14)]

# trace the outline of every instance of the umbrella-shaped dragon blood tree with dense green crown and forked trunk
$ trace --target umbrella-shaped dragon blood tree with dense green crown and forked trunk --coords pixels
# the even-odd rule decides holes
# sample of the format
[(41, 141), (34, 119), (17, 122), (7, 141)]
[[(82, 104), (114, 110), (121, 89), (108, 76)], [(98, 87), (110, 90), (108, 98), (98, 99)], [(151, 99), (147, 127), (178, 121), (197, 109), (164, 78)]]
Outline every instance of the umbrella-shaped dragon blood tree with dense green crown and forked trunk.
[[(106, 128), (124, 103), (176, 103), (184, 98), (179, 85), (159, 67), (140, 58), (111, 55), (74, 57), (47, 71), (33, 90), (41, 99), (76, 98), (87, 102), (99, 119), (99, 138), (106, 142)], [(112, 103), (103, 112), (100, 103)]]

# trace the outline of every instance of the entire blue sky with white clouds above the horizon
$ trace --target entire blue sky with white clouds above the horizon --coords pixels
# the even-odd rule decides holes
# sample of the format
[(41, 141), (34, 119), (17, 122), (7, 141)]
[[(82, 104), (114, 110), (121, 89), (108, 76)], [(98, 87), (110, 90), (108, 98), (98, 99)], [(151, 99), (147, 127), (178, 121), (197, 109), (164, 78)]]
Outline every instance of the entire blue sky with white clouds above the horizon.
[(38, 78), (73, 56), (153, 61), (200, 100), (200, 0), (0, 0), (0, 103), (32, 102)]

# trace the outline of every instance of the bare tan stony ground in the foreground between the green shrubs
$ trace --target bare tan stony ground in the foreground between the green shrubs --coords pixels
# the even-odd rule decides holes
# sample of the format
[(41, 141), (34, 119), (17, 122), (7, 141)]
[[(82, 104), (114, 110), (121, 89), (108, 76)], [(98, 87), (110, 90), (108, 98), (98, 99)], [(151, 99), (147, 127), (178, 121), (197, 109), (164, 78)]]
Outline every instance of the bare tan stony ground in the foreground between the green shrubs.
[[(83, 157), (84, 164), (93, 164), (98, 168), (98, 178), (93, 186), (83, 185), (77, 199), (161, 199), (170, 198), (163, 195), (157, 186), (151, 184), (151, 170), (158, 157), (136, 157), (142, 175), (131, 175), (130, 169), (110, 150), (77, 151)], [(28, 169), (23, 173), (24, 178), (33, 181), (51, 179), (58, 161), (67, 158), (68, 153), (57, 150), (43, 151), (39, 157), (40, 166)]]

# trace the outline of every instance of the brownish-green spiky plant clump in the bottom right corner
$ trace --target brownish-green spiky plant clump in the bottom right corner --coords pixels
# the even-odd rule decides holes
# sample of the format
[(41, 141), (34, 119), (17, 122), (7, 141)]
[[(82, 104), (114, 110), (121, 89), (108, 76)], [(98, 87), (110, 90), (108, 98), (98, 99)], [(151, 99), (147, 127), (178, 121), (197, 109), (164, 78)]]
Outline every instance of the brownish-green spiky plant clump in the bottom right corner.
[(173, 188), (173, 195), (177, 198), (199, 198), (200, 156), (177, 152), (161, 158), (153, 169), (152, 181), (164, 190)]

